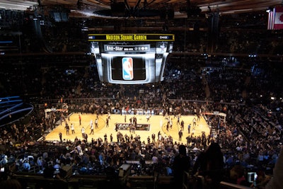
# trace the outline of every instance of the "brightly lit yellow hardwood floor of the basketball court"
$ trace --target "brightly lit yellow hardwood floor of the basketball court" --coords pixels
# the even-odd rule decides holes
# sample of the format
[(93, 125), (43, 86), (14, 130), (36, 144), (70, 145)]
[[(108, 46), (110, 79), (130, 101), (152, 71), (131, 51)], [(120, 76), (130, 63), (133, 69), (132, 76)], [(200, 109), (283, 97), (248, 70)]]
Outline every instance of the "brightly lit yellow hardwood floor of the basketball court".
[[(163, 115), (151, 115), (149, 118), (149, 121), (146, 119), (146, 115), (126, 115), (125, 122), (125, 115), (110, 115), (109, 120), (109, 127), (106, 127), (106, 118), (108, 115), (99, 115), (98, 116), (98, 129), (95, 127), (95, 120), (96, 115), (94, 114), (82, 114), (81, 115), (81, 125), (79, 125), (79, 114), (74, 113), (70, 115), (69, 117), (69, 125), (71, 123), (74, 124), (75, 128), (75, 134), (71, 134), (71, 129), (69, 130), (69, 135), (67, 135), (65, 130), (65, 123), (63, 122), (62, 125), (57, 126), (52, 130), (47, 136), (45, 137), (45, 140), (47, 141), (59, 141), (59, 132), (62, 132), (62, 139), (65, 140), (71, 140), (74, 141), (75, 137), (78, 137), (79, 139), (83, 139), (81, 134), (81, 128), (84, 127), (86, 130), (86, 134), (88, 134), (88, 142), (91, 142), (91, 139), (98, 139), (100, 137), (104, 141), (104, 135), (107, 134), (108, 142), (110, 142), (110, 134), (113, 136), (113, 141), (117, 141), (117, 132), (115, 131), (115, 124), (116, 123), (129, 123), (129, 119), (135, 116), (137, 118), (137, 124), (138, 125), (144, 125), (143, 130), (135, 130), (134, 134), (129, 132), (129, 130), (118, 130), (118, 132), (121, 132), (124, 136), (127, 134), (130, 136), (133, 134), (133, 137), (139, 135), (141, 137), (141, 142), (146, 142), (147, 144), (147, 137), (150, 137), (151, 134), (156, 134), (156, 139), (158, 139), (157, 134), (160, 131), (162, 136), (171, 136), (173, 137), (173, 142), (179, 142), (179, 135), (178, 132), (180, 131), (180, 125), (178, 125), (178, 118), (174, 118), (174, 116), (169, 116), (168, 118), (172, 118), (173, 126), (172, 128), (169, 127), (168, 131), (166, 130), (167, 127), (167, 119)], [(183, 137), (180, 143), (187, 144), (186, 137), (188, 135), (191, 135), (192, 132), (194, 132), (194, 136), (200, 136), (202, 132), (204, 132), (206, 135), (209, 134), (210, 129), (207, 125), (207, 122), (204, 120), (203, 117), (200, 118), (200, 120), (197, 121), (195, 128), (192, 126), (192, 120), (193, 118), (196, 118), (196, 116), (192, 115), (182, 115), (180, 117), (180, 122), (183, 120), (185, 122), (184, 124), (184, 130), (183, 130)], [(93, 120), (93, 128), (94, 128), (94, 134), (91, 133), (91, 120)], [(190, 134), (188, 134), (187, 125), (191, 124)]]

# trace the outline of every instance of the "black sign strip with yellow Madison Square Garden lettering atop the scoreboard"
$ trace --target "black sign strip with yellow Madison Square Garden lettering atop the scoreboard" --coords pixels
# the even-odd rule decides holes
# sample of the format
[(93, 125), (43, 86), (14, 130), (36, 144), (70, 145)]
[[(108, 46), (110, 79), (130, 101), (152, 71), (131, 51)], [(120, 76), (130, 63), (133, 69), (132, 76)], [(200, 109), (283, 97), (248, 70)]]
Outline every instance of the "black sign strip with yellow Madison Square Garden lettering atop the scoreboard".
[(88, 41), (174, 41), (173, 34), (88, 34)]

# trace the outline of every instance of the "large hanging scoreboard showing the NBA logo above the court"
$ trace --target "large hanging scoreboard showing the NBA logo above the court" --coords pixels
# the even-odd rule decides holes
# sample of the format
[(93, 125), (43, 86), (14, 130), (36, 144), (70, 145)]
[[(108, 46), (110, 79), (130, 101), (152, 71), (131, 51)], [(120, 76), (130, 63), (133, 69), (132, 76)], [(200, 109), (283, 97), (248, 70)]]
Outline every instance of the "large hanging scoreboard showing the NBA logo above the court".
[(163, 81), (173, 34), (89, 34), (99, 79), (111, 84)]

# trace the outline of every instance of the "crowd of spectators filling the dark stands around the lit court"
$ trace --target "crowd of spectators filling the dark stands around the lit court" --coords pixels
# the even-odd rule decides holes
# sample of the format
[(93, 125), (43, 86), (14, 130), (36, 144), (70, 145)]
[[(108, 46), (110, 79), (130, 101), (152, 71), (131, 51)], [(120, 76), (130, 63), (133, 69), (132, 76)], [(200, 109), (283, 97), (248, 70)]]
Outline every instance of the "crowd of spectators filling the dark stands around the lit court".
[[(49, 40), (50, 44), (52, 41), (59, 44), (54, 45), (54, 51), (69, 50), (64, 46), (74, 42), (69, 41), (71, 34), (79, 32), (78, 28), (70, 30), (65, 30), (63, 37), (63, 33), (57, 35), (64, 40), (63, 43)], [(261, 38), (268, 32), (256, 36)], [(254, 42), (248, 40), (257, 40), (254, 33), (234, 33), (238, 31), (221, 31), (220, 38), (229, 39), (229, 42), (220, 44), (218, 50), (249, 52), (250, 46), (254, 45), (248, 44)], [(45, 34), (49, 38), (56, 35), (47, 29)], [(180, 33), (176, 35), (183, 36)], [(249, 38), (250, 35), (253, 38)], [(176, 43), (175, 47), (183, 47), (182, 42)], [(275, 45), (267, 45), (266, 40), (264, 43), (265, 48)], [(190, 50), (196, 48), (196, 52), (205, 51), (195, 47), (196, 44), (186, 47)], [(76, 45), (71, 45), (73, 50), (78, 50)], [(196, 162), (200, 161), (202, 152), (216, 142), (223, 153), (224, 173), (221, 179), (236, 183), (238, 178), (248, 179), (247, 171), (257, 171), (258, 175), (260, 171), (272, 174), (282, 145), (282, 68), (277, 62), (268, 61), (262, 66), (257, 59), (253, 67), (245, 69), (241, 66), (226, 67), (224, 64), (211, 67), (205, 61), (200, 63), (197, 60), (168, 59), (165, 79), (161, 83), (123, 86), (100, 83), (93, 57), (88, 55), (1, 59), (0, 64), (5, 66), (0, 71), (0, 96), (21, 94), (26, 101), (35, 104), (35, 110), (29, 115), (28, 122), (20, 120), (1, 127), (0, 165), (16, 164), (16, 171), (36, 171), (50, 178), (54, 176), (54, 171), (50, 170), (67, 165), (71, 166), (75, 175), (103, 175), (108, 172), (107, 168), (117, 170), (122, 164), (134, 161), (133, 176), (152, 176), (155, 171), (161, 175), (173, 175), (174, 170), (170, 170), (179, 154), (180, 144), (162, 133), (156, 133), (158, 139), (150, 139), (148, 143), (141, 142), (138, 137), (122, 140), (124, 142), (102, 138), (88, 142), (81, 139), (45, 142), (45, 131), (55, 127), (61, 115), (54, 113), (45, 118), (44, 108), (61, 108), (62, 103), (67, 103), (69, 112), (81, 113), (115, 113), (113, 110), (122, 110), (127, 106), (154, 110), (156, 115), (226, 113), (225, 120), (219, 115), (204, 114), (212, 132), (207, 136), (187, 137), (185, 149), (190, 157), (190, 171), (198, 172), (193, 169)], [(240, 58), (238, 61), (243, 65), (246, 59)], [(41, 137), (42, 140), (37, 140)], [(235, 181), (230, 177), (230, 170), (240, 170), (237, 178), (233, 178)], [(247, 182), (243, 184), (250, 185)]]

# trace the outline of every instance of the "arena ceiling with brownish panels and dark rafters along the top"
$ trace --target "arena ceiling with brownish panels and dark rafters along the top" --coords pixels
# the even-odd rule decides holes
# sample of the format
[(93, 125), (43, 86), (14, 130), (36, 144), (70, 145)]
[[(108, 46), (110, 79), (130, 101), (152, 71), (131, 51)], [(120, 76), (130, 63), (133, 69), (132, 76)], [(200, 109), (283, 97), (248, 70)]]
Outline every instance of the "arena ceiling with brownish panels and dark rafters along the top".
[[(187, 11), (200, 8), (201, 13), (219, 11), (221, 14), (250, 13), (265, 11), (273, 6), (282, 6), (282, 0), (1, 0), (0, 8), (33, 9), (34, 7), (50, 10), (64, 8), (69, 17), (123, 17), (120, 6), (125, 7), (127, 16), (154, 18), (154, 12), (173, 11), (175, 18), (187, 16)], [(193, 10), (192, 10), (192, 9)], [(113, 13), (115, 9), (115, 13)], [(118, 11), (117, 11), (118, 9)], [(121, 11), (121, 12), (120, 12)], [(140, 14), (139, 14), (140, 15)]]

